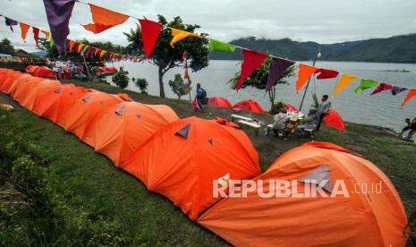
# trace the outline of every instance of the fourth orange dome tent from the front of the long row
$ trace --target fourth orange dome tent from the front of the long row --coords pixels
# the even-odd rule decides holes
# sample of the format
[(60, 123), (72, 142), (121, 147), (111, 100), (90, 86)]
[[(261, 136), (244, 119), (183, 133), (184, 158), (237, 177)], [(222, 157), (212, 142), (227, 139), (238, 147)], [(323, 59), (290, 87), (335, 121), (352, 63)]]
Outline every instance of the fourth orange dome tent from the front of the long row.
[(71, 108), (58, 119), (57, 124), (62, 126), (65, 131), (72, 132), (82, 138), (89, 125), (94, 122), (100, 113), (106, 110), (107, 107), (114, 106), (122, 101), (120, 97), (113, 94), (99, 91), (89, 92), (76, 100)]

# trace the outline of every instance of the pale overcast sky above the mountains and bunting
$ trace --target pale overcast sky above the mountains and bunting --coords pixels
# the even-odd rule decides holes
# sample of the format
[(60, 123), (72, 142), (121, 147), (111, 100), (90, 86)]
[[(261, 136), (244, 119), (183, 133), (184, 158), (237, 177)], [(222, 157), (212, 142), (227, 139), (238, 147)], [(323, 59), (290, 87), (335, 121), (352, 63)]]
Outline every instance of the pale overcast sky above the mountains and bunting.
[[(335, 43), (416, 33), (415, 0), (95, 0), (90, 3), (151, 20), (157, 20), (158, 13), (168, 19), (179, 15), (185, 23), (200, 24), (200, 32), (225, 41), (256, 36)], [(0, 0), (0, 13), (48, 30), (42, 0)], [(4, 23), (3, 18), (0, 21)], [(137, 20), (131, 18), (98, 35), (81, 27), (89, 22), (89, 6), (75, 4), (69, 38), (126, 45), (123, 31), (134, 28)], [(0, 24), (0, 38), (11, 39), (16, 47), (34, 50), (31, 31), (27, 43), (23, 43), (20, 28), (16, 27), (12, 33)]]

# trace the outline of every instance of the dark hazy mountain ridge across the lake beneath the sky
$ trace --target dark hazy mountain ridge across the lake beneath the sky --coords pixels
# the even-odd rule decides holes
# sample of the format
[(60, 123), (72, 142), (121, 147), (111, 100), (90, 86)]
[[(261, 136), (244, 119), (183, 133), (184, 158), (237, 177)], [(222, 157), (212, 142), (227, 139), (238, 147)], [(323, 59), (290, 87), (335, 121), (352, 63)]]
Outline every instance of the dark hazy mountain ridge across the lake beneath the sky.
[[(297, 61), (312, 59), (318, 49), (316, 42), (297, 42), (289, 38), (272, 40), (249, 37), (235, 39), (230, 43)], [(416, 63), (416, 34), (325, 44), (321, 47), (321, 60)], [(241, 60), (242, 51), (237, 49), (234, 53), (212, 52), (210, 59)]]

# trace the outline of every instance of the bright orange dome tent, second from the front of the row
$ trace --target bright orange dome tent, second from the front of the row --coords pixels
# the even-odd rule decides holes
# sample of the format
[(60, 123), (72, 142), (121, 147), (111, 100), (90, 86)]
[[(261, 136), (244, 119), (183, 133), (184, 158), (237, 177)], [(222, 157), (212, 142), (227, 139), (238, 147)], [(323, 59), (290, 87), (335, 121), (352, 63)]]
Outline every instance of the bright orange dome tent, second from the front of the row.
[(183, 209), (191, 219), (212, 206), (214, 181), (260, 174), (259, 158), (239, 129), (188, 117), (156, 132), (122, 168)]

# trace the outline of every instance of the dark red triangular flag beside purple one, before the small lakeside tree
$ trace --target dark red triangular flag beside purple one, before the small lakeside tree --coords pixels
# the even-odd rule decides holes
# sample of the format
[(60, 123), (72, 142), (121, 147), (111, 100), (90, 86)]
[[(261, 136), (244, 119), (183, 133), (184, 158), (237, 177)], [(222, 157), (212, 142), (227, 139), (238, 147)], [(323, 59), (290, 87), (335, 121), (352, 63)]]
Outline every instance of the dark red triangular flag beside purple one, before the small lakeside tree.
[(235, 89), (238, 91), (242, 87), (242, 82), (250, 76), (252, 72), (257, 70), (261, 64), (264, 63), (268, 54), (260, 53), (257, 51), (252, 51), (249, 49), (242, 50), (242, 56), (244, 60), (242, 61), (242, 75), (240, 79), (235, 84)]

